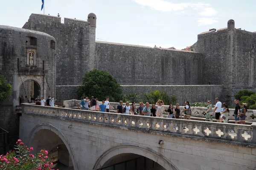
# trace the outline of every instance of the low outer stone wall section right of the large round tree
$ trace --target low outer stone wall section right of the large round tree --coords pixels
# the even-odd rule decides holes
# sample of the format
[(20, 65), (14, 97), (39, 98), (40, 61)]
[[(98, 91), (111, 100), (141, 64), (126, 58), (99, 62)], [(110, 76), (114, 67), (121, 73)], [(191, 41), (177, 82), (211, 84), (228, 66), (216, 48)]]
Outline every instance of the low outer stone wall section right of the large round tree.
[[(188, 100), (192, 102), (215, 101), (216, 97), (222, 98), (222, 85), (122, 85), (123, 93), (138, 93), (143, 96), (150, 91), (166, 91), (169, 96), (176, 96), (177, 102), (183, 105)], [(166, 103), (168, 105), (168, 103)]]

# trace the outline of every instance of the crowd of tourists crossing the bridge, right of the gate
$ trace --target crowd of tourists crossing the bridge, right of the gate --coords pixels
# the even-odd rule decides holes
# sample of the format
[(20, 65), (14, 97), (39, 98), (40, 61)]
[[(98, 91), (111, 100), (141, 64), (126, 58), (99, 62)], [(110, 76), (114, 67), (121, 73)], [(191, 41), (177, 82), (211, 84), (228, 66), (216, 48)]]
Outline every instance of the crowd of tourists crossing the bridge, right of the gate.
[[(212, 122), (212, 116), (215, 116), (217, 122), (229, 121), (230, 110), (226, 103), (221, 103), (218, 98), (215, 99), (216, 104), (212, 105), (212, 101), (208, 100), (208, 106), (206, 111), (206, 121)], [(246, 112), (247, 112), (247, 103), (242, 103), (238, 99), (234, 100), (236, 108), (234, 111), (235, 122), (240, 124), (245, 124)], [(184, 108), (180, 108), (180, 104), (177, 103), (174, 109), (172, 104), (169, 105), (168, 109), (164, 110), (164, 102), (162, 99), (159, 99), (156, 103), (153, 103), (150, 108), (148, 102), (140, 102), (140, 106), (137, 107), (135, 102), (132, 102), (131, 105), (129, 102), (125, 102), (123, 106), (123, 101), (119, 101), (119, 105), (116, 107), (116, 113), (123, 114), (132, 114), (132, 115), (141, 115), (141, 116), (153, 116), (153, 117), (163, 117), (163, 112), (167, 113), (166, 118), (171, 119), (191, 119), (192, 110), (190, 107), (189, 101), (185, 102)], [(110, 112), (110, 109), (113, 109), (109, 103), (109, 98), (102, 100), (102, 104), (99, 105), (99, 100), (92, 96), (91, 99), (88, 97), (83, 97), (80, 103), (80, 109), (82, 110), (91, 110), (91, 111), (101, 111), (101, 112)], [(182, 113), (184, 116), (182, 116)]]

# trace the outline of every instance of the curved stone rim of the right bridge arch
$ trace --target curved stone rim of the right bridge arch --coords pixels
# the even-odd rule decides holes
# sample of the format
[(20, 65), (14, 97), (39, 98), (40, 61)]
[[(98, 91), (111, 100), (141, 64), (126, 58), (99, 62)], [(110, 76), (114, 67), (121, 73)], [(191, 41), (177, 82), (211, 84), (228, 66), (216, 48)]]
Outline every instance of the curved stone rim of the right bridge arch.
[(96, 161), (93, 166), (93, 170), (102, 168), (102, 166), (111, 159), (113, 156), (122, 154), (122, 153), (134, 153), (140, 156), (144, 156), (148, 159), (151, 159), (166, 170), (178, 170), (175, 165), (173, 165), (169, 160), (167, 160), (164, 156), (160, 155), (157, 152), (154, 152), (150, 148), (137, 146), (135, 144), (120, 144), (115, 147), (111, 147), (109, 150), (105, 151)]

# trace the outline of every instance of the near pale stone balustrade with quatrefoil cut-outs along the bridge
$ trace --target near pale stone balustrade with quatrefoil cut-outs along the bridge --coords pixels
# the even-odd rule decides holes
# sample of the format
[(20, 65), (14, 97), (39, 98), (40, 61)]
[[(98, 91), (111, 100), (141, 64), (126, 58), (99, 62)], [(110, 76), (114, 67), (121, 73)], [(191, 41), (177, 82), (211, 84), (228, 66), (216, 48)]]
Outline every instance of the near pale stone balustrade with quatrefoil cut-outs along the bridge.
[[(144, 133), (154, 133), (165, 136), (178, 136), (195, 140), (224, 142), (244, 146), (256, 143), (256, 123), (238, 125), (230, 123), (205, 122), (184, 119), (166, 119), (160, 117), (105, 113), (98, 111), (83, 111), (69, 108), (56, 108), (40, 105), (22, 106), (26, 114), (47, 116), (54, 119), (79, 121), (92, 125), (137, 130)], [(254, 137), (254, 138), (253, 138)]]

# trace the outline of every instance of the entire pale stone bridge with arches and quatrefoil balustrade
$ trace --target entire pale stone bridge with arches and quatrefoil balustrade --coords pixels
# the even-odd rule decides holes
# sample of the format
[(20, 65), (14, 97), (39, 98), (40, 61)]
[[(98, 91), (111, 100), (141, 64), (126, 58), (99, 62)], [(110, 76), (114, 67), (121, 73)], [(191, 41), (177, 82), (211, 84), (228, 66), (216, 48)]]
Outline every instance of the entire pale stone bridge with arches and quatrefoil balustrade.
[(25, 144), (58, 146), (74, 170), (255, 170), (254, 128), (38, 105), (23, 105), (20, 117)]

